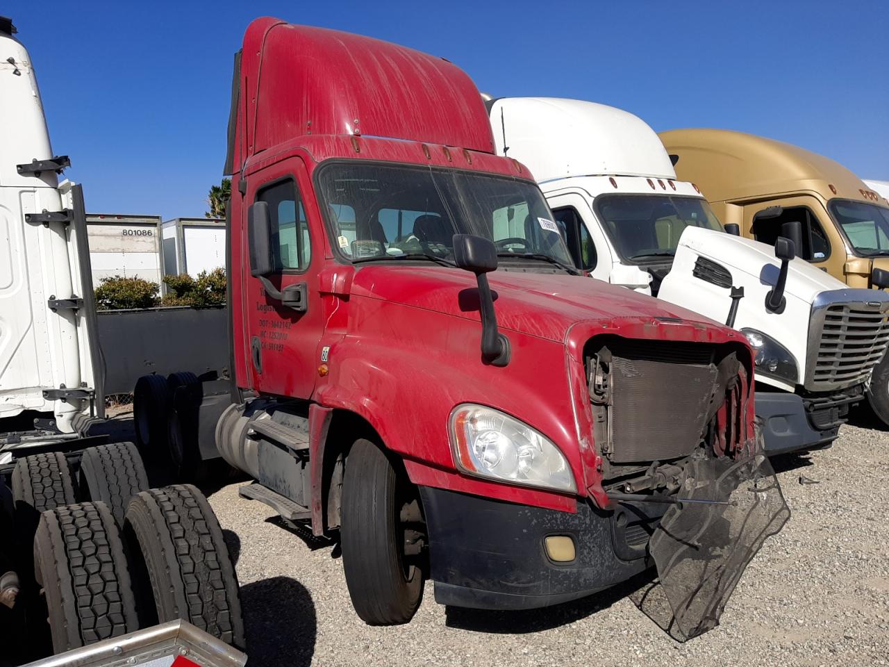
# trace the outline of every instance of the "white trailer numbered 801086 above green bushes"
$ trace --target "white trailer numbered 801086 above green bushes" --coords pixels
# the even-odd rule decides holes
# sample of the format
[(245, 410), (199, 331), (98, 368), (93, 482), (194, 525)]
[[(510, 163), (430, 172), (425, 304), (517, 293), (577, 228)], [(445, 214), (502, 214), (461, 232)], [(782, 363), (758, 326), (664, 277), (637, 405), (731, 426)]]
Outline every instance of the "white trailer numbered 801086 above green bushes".
[(161, 217), (87, 213), (92, 285), (105, 277), (138, 277), (161, 285)]

